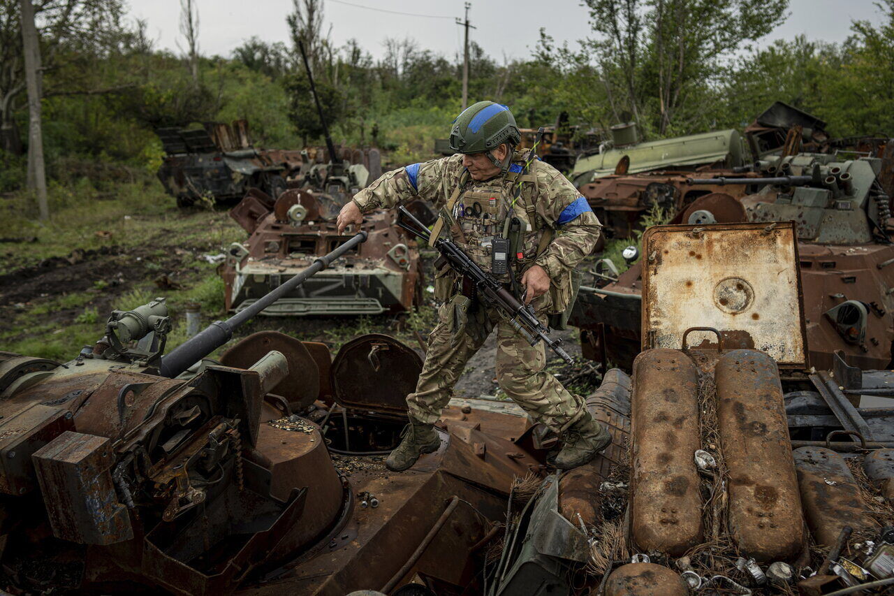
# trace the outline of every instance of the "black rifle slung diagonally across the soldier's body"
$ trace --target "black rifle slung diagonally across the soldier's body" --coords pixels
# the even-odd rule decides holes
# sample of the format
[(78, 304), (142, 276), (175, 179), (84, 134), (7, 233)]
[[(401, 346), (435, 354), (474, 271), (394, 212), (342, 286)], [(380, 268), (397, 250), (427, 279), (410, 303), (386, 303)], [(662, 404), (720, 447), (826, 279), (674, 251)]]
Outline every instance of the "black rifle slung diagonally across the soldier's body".
[[(428, 228), (416, 217), (413, 217), (407, 209), (399, 207), (398, 211), (401, 214), (397, 220), (398, 226), (410, 234), (417, 235), (427, 243), (431, 236)], [(561, 339), (552, 339), (547, 335), (549, 329), (537, 319), (534, 309), (519, 302), (499, 281), (478, 267), (477, 263), (471, 260), (456, 243), (447, 238), (438, 238), (434, 241), (434, 248), (441, 253), (441, 256), (454, 271), (475, 285), (483, 302), (495, 306), (509, 320), (510, 326), (530, 345), (537, 345), (537, 342), (542, 341), (562, 360), (569, 364), (574, 363), (574, 359), (561, 348)]]

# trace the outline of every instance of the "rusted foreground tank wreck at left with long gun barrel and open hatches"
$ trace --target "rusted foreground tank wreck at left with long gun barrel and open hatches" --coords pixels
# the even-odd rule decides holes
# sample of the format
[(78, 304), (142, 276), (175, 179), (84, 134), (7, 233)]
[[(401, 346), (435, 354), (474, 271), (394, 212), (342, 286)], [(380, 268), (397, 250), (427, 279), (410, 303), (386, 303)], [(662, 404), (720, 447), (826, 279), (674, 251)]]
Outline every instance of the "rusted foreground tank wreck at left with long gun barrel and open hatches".
[(4, 590), (483, 591), (513, 478), (541, 470), (513, 442), (531, 441), (524, 413), (454, 404), (442, 447), (395, 476), (384, 456), (421, 370), (407, 346), (363, 336), (333, 360), (265, 331), (206, 359), (365, 237), (168, 354), (164, 299), (114, 311), (70, 362), (0, 353)]

